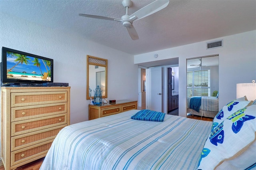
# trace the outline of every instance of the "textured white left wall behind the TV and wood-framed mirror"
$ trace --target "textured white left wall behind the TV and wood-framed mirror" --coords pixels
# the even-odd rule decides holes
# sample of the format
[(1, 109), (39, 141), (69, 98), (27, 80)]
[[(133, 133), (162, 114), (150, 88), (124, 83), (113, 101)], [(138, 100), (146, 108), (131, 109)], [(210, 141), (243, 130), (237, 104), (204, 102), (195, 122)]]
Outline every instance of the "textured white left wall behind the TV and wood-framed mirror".
[(128, 53), (0, 13), (2, 46), (54, 59), (54, 82), (71, 87), (71, 124), (88, 120), (86, 55), (108, 59), (108, 99), (138, 99), (138, 66)]

